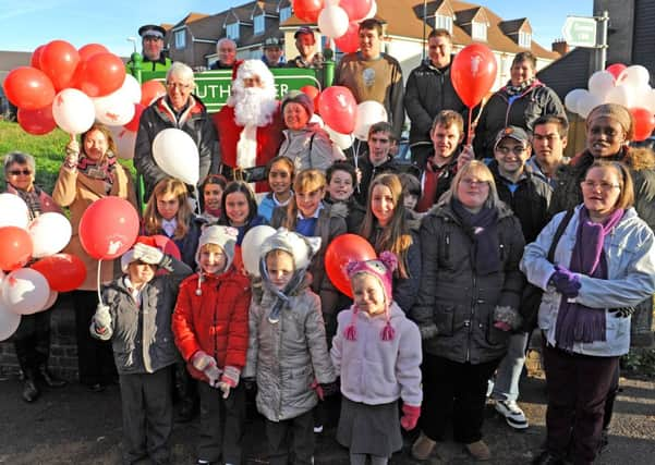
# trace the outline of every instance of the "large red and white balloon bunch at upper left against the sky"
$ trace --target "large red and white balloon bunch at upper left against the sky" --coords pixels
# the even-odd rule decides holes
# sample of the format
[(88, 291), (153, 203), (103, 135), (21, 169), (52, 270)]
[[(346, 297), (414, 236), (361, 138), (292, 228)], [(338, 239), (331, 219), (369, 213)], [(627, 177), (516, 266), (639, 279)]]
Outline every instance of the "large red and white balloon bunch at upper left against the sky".
[[(163, 94), (163, 86), (157, 84), (156, 91)], [(25, 132), (43, 135), (59, 126), (69, 134), (82, 134), (97, 120), (112, 127), (119, 156), (134, 156), (134, 132), (146, 93), (105, 46), (87, 44), (77, 50), (65, 40), (39, 46), (31, 65), (12, 70), (3, 88), (19, 108), (19, 124)]]

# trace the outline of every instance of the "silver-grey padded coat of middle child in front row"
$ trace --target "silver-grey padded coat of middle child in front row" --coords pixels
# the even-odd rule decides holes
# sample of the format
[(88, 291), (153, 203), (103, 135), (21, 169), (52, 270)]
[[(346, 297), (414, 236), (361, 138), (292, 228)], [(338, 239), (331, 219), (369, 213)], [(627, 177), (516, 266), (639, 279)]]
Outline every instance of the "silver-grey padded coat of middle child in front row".
[(318, 399), (312, 389), (333, 382), (320, 299), (303, 287), (290, 296), (276, 323), (268, 320), (275, 296), (264, 291), (250, 308), (247, 364), (243, 377), (257, 380), (257, 409), (271, 421), (310, 412)]

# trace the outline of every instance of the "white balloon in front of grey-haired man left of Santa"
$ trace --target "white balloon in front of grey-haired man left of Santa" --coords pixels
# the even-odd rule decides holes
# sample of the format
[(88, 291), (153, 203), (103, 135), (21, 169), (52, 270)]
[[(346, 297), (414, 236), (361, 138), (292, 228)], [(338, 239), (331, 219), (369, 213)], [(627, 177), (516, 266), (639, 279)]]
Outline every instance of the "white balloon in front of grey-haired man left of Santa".
[(155, 161), (167, 174), (195, 185), (201, 176), (199, 155), (189, 134), (175, 127), (159, 132), (153, 140)]

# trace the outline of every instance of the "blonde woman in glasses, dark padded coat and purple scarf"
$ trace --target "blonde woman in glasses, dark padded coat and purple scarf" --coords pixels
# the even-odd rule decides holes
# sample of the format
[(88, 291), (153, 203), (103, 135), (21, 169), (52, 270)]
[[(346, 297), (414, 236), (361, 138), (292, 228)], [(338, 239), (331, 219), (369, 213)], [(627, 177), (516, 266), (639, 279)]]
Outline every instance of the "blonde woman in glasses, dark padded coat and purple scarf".
[(423, 339), (425, 394), (415, 458), (430, 455), (450, 421), (473, 457), (490, 458), (482, 439), (487, 380), (519, 325), (524, 246), (519, 220), (481, 161), (464, 164), (423, 219), (421, 290), (411, 313)]

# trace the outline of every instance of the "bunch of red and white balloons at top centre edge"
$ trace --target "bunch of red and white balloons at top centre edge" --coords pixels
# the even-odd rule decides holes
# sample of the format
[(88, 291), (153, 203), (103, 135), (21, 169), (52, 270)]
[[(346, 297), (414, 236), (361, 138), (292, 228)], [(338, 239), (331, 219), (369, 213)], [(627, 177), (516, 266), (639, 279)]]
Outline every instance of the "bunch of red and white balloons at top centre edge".
[(293, 13), (304, 22), (316, 23), (335, 39), (344, 53), (360, 47), (359, 23), (377, 13), (375, 0), (293, 0)]

